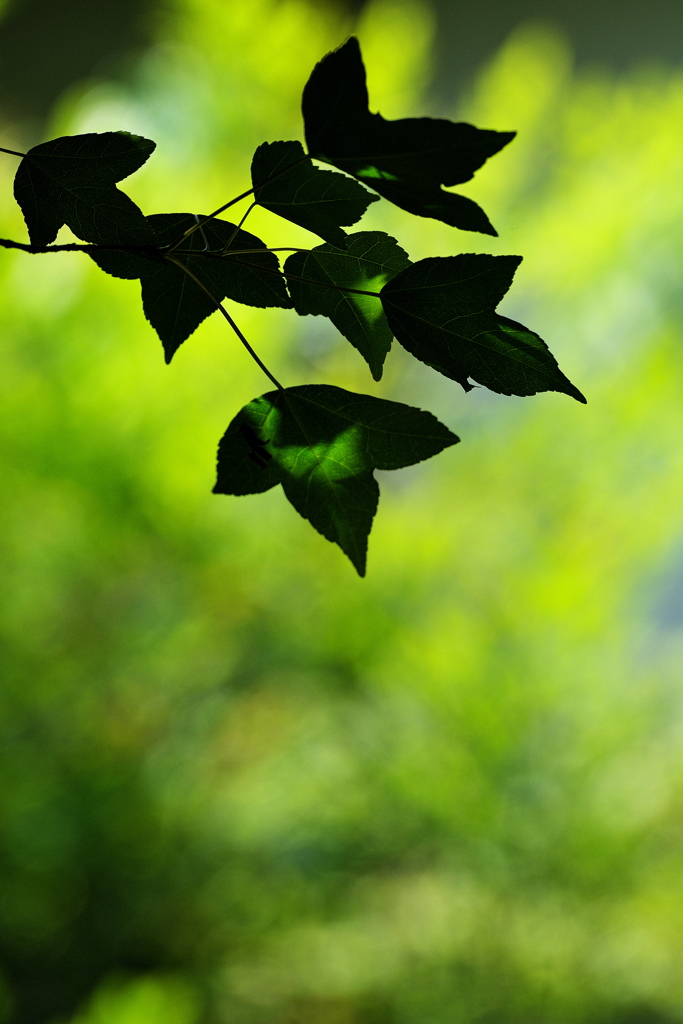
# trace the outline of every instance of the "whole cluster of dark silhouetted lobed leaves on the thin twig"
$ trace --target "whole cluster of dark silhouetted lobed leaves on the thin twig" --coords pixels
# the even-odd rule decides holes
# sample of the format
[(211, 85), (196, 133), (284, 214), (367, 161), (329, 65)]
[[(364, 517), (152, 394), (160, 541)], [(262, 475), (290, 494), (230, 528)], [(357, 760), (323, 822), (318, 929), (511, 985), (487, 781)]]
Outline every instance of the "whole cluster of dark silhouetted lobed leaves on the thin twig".
[[(220, 311), (275, 387), (228, 426), (214, 492), (247, 495), (282, 484), (295, 509), (362, 575), (379, 499), (374, 470), (413, 465), (459, 438), (410, 406), (332, 385), (283, 387), (224, 299), (327, 316), (376, 381), (396, 338), (466, 391), (475, 381), (501, 394), (553, 390), (585, 398), (537, 334), (497, 312), (520, 257), (460, 254), (414, 263), (383, 231), (345, 230), (384, 197), (418, 216), (496, 234), (475, 203), (442, 186), (469, 180), (514, 133), (371, 114), (354, 38), (315, 67), (302, 110), (307, 152), (298, 141), (264, 142), (252, 161), (252, 187), (211, 214), (145, 216), (117, 182), (144, 163), (155, 143), (126, 132), (67, 136), (17, 154), (14, 196), (31, 244), (0, 244), (83, 251), (114, 276), (139, 279), (144, 314), (167, 362), (206, 316)], [(219, 218), (249, 197), (238, 224)], [(279, 250), (243, 227), (257, 204), (323, 244), (290, 250), (281, 266)], [(53, 245), (62, 224), (86, 245)]]

